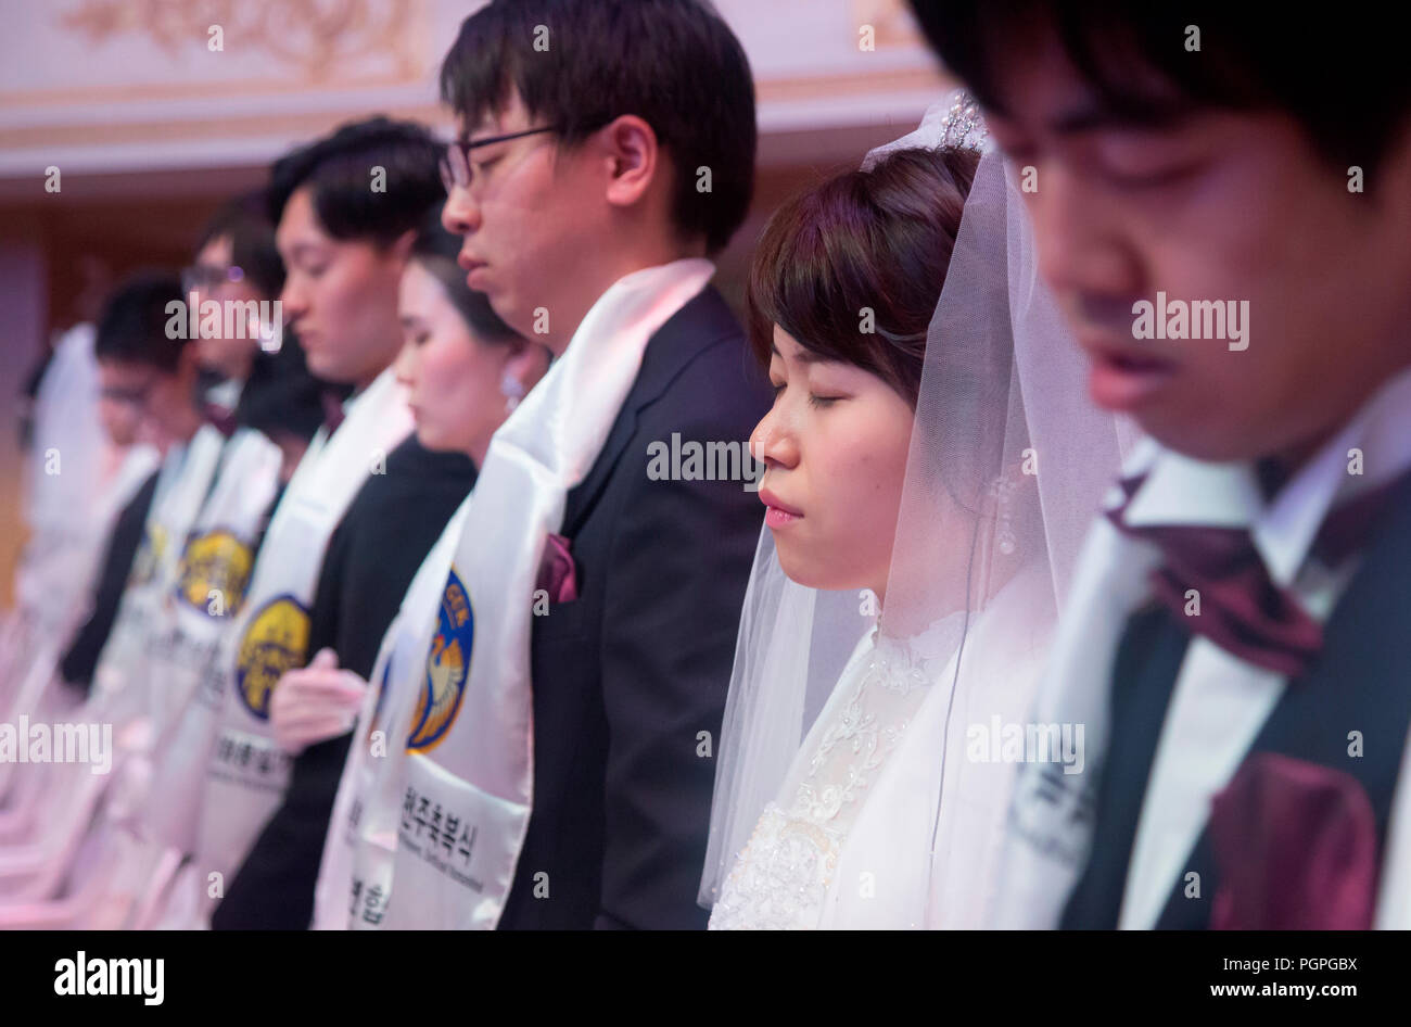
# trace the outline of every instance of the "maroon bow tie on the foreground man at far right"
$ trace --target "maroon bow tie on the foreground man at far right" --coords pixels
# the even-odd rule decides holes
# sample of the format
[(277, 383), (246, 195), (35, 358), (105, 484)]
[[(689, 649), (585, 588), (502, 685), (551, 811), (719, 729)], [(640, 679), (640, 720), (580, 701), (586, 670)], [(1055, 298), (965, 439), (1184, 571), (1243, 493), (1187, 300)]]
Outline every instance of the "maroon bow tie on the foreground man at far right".
[[(1322, 625), (1288, 588), (1280, 588), (1247, 528), (1153, 525), (1133, 528), (1125, 516), (1146, 475), (1118, 484), (1126, 499), (1108, 518), (1123, 533), (1160, 547), (1151, 573), (1156, 600), (1195, 635), (1204, 635), (1239, 659), (1298, 677), (1322, 649)], [(1312, 553), (1336, 567), (1367, 537), (1401, 478), (1367, 490), (1335, 506), (1325, 518)], [(1187, 591), (1199, 594), (1199, 615), (1187, 615)]]

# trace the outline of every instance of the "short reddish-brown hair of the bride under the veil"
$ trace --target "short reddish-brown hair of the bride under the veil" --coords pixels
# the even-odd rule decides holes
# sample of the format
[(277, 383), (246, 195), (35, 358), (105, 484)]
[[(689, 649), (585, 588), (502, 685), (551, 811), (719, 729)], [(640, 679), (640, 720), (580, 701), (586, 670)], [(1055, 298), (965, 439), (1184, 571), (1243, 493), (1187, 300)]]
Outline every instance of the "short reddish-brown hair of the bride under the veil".
[(765, 226), (745, 286), (755, 357), (769, 364), (779, 324), (806, 350), (878, 375), (914, 408), (978, 166), (974, 150), (895, 150), (869, 171), (789, 199)]

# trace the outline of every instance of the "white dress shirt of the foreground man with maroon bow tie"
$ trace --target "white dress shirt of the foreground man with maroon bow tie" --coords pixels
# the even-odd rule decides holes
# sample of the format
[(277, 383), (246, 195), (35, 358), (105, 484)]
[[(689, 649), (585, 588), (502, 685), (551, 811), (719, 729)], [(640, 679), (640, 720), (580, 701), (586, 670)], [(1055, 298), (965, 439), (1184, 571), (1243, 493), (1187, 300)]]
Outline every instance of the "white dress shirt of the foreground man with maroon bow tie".
[[(1362, 451), (1353, 474), (1352, 450)], [(1209, 464), (1157, 450), (1126, 523), (1249, 528), (1276, 585), (1294, 592), (1319, 622), (1346, 588), (1356, 560), (1331, 570), (1309, 549), (1335, 501), (1411, 467), (1411, 371), (1377, 392), (1266, 502), (1250, 463)], [(1118, 925), (1150, 928), (1209, 815), (1278, 703), (1287, 677), (1246, 663), (1195, 635), (1161, 727)], [(1404, 791), (1404, 790), (1398, 790)], [(1405, 804), (1405, 797), (1400, 796)]]

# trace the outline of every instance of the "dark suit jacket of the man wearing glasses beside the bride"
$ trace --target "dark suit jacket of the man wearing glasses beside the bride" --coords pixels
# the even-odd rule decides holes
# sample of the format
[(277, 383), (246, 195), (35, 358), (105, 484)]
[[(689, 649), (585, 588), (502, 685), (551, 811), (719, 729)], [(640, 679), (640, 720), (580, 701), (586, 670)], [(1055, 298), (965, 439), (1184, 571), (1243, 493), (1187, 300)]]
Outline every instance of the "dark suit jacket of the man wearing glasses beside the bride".
[(502, 928), (706, 925), (696, 894), (763, 506), (741, 481), (652, 481), (648, 447), (679, 433), (748, 458), (769, 402), (707, 286), (652, 336), (569, 492), (579, 598), (533, 622), (533, 813)]

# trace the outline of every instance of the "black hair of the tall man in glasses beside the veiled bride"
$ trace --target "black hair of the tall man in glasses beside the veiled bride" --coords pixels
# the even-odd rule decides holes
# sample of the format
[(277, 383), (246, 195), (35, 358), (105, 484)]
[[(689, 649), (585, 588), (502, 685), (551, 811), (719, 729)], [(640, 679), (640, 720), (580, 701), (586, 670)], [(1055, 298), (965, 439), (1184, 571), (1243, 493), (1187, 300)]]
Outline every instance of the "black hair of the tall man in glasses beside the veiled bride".
[[(536, 27), (549, 49), (536, 51)], [(468, 123), (501, 110), (511, 86), (573, 147), (622, 114), (670, 154), (672, 217), (683, 240), (725, 247), (755, 185), (755, 85), (739, 40), (703, 0), (492, 0), (460, 27), (442, 63), (442, 99)], [(711, 190), (696, 188), (708, 166)]]

